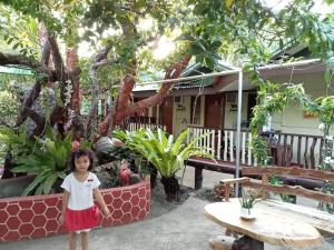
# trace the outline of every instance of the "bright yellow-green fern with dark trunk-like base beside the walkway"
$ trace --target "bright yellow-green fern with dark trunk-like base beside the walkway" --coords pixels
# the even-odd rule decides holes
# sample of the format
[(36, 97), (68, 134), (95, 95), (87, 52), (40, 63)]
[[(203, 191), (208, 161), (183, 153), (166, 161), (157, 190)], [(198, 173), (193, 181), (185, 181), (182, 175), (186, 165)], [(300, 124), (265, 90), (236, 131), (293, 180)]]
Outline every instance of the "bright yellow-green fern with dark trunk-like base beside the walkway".
[(122, 139), (130, 149), (146, 158), (158, 170), (167, 201), (178, 200), (179, 183), (175, 174), (185, 166), (185, 160), (195, 156), (213, 159), (212, 153), (196, 146), (203, 137), (186, 143), (187, 134), (188, 130), (185, 130), (174, 140), (173, 134), (167, 137), (161, 129), (158, 129), (156, 133), (149, 129), (117, 132), (119, 139)]

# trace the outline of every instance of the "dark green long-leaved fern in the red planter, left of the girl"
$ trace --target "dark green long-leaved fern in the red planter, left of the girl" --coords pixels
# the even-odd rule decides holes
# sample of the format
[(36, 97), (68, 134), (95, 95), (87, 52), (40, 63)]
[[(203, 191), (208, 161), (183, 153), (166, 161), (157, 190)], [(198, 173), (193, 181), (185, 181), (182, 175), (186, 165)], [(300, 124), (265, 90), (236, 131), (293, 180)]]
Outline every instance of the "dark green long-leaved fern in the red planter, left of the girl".
[(72, 134), (65, 139), (48, 129), (45, 139), (38, 139), (38, 146), (31, 154), (14, 160), (17, 167), (13, 172), (37, 174), (36, 179), (26, 188), (22, 196), (50, 193), (58, 179), (66, 177), (67, 162), (71, 154)]

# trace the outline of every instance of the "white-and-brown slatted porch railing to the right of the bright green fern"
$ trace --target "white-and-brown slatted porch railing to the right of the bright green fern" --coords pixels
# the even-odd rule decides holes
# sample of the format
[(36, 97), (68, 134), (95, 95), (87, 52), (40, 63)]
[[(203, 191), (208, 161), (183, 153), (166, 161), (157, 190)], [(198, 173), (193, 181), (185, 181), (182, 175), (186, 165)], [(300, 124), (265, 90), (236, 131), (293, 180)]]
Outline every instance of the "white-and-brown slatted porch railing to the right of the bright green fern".
[[(206, 148), (215, 156), (216, 160), (235, 162), (236, 159), (236, 130), (208, 129), (188, 127), (188, 141), (204, 136), (197, 146)], [(296, 164), (306, 169), (315, 169), (321, 162), (321, 148), (323, 139), (318, 136), (293, 134), (281, 132), (266, 132), (271, 164), (292, 166)], [(243, 130), (240, 138), (240, 164), (257, 166), (252, 152), (249, 141), (252, 133)]]

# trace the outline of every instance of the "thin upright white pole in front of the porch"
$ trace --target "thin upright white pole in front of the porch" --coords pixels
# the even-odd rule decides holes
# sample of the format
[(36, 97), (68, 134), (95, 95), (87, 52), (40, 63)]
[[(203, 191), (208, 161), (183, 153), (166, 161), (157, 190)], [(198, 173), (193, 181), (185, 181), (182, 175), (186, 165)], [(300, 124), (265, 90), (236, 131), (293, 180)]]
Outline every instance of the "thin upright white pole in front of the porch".
[[(240, 169), (240, 132), (242, 132), (242, 106), (243, 106), (243, 69), (239, 70), (238, 77), (238, 107), (237, 107), (237, 134), (236, 134), (236, 170), (235, 178), (239, 178), (239, 169)], [(239, 186), (236, 183), (235, 186), (235, 197), (239, 194)]]

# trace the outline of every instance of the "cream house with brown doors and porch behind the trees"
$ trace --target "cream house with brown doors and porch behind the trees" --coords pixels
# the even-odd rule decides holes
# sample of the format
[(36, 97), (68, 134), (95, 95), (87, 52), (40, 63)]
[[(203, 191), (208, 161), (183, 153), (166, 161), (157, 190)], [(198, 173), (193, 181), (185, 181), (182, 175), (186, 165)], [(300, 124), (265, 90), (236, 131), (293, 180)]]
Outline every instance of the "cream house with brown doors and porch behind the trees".
[[(295, 47), (285, 50), (284, 54), (273, 58), (273, 63), (258, 68), (263, 78), (276, 83), (303, 83), (307, 94), (317, 98), (325, 94), (324, 72), (326, 66), (316, 59), (295, 62), (275, 63), (289, 57), (307, 54), (307, 49)], [(219, 63), (216, 71), (229, 71), (233, 67)], [(199, 63), (188, 66), (180, 77), (190, 77), (210, 72)], [(252, 109), (256, 104), (257, 90), (252, 84), (249, 73), (243, 76), (242, 99), (242, 157), (243, 164), (256, 164), (252, 156), (247, 132), (252, 119)], [(166, 126), (169, 133), (178, 134), (190, 128), (193, 136), (209, 133), (200, 143), (213, 150), (216, 159), (235, 161), (235, 138), (237, 117), (237, 82), (238, 74), (210, 77), (175, 84), (170, 94), (159, 107), (150, 108), (145, 116), (155, 123)], [(137, 100), (147, 98), (157, 87), (136, 88), (134, 97)], [(307, 168), (318, 166), (321, 159), (322, 138), (318, 131), (320, 120), (303, 112), (296, 103), (289, 106), (272, 118), (269, 152), (272, 162), (279, 166), (297, 164)]]

